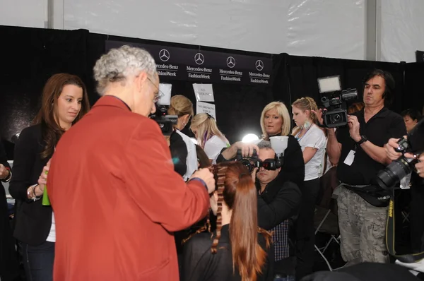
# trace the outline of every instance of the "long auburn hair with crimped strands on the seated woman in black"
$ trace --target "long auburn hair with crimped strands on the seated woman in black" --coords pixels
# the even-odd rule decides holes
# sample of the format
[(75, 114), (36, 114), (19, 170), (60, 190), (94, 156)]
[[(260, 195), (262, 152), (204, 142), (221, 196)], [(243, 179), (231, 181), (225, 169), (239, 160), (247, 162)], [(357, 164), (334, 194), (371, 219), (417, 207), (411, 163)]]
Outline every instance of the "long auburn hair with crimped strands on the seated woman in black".
[[(217, 252), (222, 229), (223, 202), (232, 210), (230, 221), (230, 243), (232, 252), (232, 268), (237, 267), (242, 281), (257, 280), (266, 260), (266, 251), (258, 244), (258, 232), (266, 239), (266, 247), (270, 246), (271, 234), (258, 227), (257, 189), (254, 186), (247, 167), (240, 162), (223, 162), (213, 165), (218, 192), (218, 211), (216, 235), (211, 246), (212, 253)], [(210, 231), (210, 226), (208, 227)], [(202, 232), (206, 229), (199, 229)]]

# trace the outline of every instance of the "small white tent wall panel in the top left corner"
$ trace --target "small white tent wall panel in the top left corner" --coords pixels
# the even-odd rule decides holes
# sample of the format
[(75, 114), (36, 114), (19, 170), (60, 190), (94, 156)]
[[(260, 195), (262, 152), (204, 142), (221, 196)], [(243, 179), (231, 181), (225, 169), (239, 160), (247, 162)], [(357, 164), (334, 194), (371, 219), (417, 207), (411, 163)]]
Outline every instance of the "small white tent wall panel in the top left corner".
[(0, 0), (0, 25), (45, 28), (47, 0)]

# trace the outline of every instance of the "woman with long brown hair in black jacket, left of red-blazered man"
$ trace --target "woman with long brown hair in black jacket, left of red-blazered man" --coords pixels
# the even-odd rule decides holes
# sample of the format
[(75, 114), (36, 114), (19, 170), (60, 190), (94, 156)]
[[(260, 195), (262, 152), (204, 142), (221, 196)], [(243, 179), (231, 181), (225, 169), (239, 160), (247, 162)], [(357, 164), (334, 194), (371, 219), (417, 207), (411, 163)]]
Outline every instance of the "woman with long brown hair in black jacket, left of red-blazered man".
[(44, 184), (37, 184), (61, 135), (88, 112), (86, 86), (78, 76), (54, 74), (42, 91), (34, 125), (23, 129), (15, 146), (11, 196), (20, 201), (14, 236), (22, 245), (27, 279), (52, 280), (55, 223), (52, 207), (42, 205)]

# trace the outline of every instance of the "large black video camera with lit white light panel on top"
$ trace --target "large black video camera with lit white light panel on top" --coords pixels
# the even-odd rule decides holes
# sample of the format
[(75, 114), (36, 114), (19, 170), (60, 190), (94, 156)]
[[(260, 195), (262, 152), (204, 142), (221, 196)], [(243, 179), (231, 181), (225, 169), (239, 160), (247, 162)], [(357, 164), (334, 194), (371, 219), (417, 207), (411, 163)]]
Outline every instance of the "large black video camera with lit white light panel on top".
[(322, 97), (321, 102), (325, 107), (322, 126), (336, 128), (348, 124), (347, 102), (358, 98), (358, 91), (350, 88), (341, 90), (340, 76), (318, 78), (319, 93), (329, 95)]

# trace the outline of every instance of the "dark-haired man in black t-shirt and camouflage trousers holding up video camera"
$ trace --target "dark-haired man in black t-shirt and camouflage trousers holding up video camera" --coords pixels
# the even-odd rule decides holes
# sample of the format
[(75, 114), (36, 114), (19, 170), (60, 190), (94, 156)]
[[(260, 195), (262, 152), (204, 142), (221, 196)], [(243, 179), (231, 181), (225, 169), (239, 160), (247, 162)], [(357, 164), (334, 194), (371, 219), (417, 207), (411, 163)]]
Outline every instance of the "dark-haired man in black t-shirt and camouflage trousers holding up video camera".
[[(364, 80), (365, 108), (348, 116), (348, 126), (327, 129), (327, 153), (338, 164), (341, 181), (338, 194), (338, 223), (341, 255), (352, 265), (360, 262), (389, 261), (385, 245), (389, 191), (375, 182), (377, 172), (391, 160), (384, 150), (390, 138), (406, 134), (404, 119), (391, 112), (394, 78), (375, 70)], [(317, 112), (322, 123), (322, 111)]]

